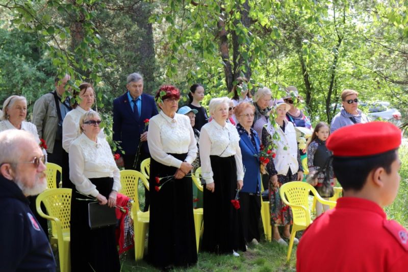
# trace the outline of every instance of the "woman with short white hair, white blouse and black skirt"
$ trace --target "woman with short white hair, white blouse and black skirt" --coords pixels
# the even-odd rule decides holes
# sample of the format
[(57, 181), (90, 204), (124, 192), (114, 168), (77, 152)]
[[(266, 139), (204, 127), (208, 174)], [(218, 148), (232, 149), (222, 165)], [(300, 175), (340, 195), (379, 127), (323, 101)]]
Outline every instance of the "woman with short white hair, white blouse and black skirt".
[(228, 98), (213, 98), (209, 110), (213, 121), (201, 128), (200, 160), (206, 181), (204, 197), (204, 235), (202, 249), (217, 254), (245, 251), (240, 210), (235, 209), (237, 189), (243, 186), (240, 137), (237, 129), (227, 123)]

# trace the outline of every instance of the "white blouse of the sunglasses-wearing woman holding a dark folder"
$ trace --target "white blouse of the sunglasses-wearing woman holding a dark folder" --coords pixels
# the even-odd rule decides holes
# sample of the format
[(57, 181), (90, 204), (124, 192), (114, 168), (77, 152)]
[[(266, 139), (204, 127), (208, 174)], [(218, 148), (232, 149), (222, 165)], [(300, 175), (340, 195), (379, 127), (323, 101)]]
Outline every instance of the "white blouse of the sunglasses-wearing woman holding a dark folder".
[(109, 143), (104, 138), (96, 143), (82, 133), (69, 149), (69, 179), (78, 191), (96, 197), (99, 192), (89, 179), (105, 177), (113, 178), (112, 190), (120, 190), (120, 172)]

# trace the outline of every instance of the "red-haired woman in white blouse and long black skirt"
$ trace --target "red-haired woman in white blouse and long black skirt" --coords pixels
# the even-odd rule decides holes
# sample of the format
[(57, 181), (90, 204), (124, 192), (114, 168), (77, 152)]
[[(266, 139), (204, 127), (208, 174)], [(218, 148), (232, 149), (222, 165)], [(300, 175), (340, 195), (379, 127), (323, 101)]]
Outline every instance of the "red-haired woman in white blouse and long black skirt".
[(148, 261), (162, 269), (197, 262), (191, 163), (197, 144), (190, 119), (176, 113), (180, 91), (164, 85), (156, 94), (161, 112), (150, 118), (150, 223)]

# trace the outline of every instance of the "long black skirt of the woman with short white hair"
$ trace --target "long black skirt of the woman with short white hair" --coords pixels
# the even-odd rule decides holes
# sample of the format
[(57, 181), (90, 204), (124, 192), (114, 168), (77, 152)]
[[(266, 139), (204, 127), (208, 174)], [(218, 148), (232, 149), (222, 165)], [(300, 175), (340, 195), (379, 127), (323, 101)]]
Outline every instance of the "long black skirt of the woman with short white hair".
[(210, 156), (215, 190), (206, 189), (204, 197), (204, 234), (202, 250), (217, 254), (246, 251), (241, 224), (241, 210), (231, 203), (237, 194), (235, 157)]

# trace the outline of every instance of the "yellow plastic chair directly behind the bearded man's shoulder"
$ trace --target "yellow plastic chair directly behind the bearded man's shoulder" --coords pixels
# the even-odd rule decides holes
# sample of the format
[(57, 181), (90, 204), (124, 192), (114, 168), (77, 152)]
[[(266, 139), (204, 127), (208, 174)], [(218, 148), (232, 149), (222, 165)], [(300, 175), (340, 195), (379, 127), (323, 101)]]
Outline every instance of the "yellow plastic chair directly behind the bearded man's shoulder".
[[(71, 195), (69, 188), (50, 189), (37, 196), (36, 208), (38, 214), (51, 221), (52, 234), (50, 243), (58, 244), (61, 272), (71, 271), (70, 254), (70, 219), (71, 219)], [(44, 204), (48, 215), (41, 210)]]

